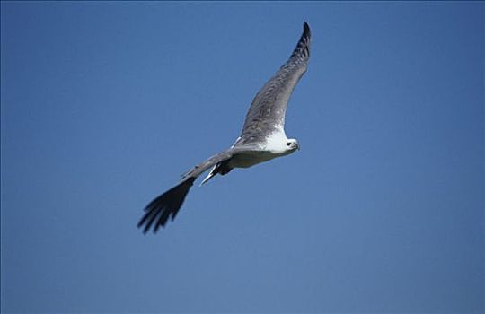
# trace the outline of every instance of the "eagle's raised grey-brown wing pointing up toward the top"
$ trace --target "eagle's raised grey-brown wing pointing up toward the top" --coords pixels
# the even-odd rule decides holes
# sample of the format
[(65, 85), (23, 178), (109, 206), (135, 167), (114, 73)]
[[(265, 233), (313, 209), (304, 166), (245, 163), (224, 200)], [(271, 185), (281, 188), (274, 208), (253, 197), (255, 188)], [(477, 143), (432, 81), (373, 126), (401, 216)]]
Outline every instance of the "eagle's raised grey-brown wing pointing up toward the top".
[(304, 22), (303, 34), (291, 57), (252, 100), (242, 127), (241, 144), (260, 141), (285, 126), (288, 99), (306, 72), (310, 58), (310, 36), (310, 27)]

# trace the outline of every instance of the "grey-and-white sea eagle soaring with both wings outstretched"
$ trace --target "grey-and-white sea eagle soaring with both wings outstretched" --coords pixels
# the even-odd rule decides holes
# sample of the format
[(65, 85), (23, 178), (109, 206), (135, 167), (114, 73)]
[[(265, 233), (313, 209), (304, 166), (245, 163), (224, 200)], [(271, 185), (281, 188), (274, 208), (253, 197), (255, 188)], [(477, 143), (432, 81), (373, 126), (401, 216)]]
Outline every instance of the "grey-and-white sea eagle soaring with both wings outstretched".
[(285, 113), (288, 99), (308, 66), (310, 36), (310, 27), (304, 22), (303, 34), (295, 50), (252, 100), (242, 133), (234, 145), (187, 171), (177, 186), (146, 205), (138, 228), (143, 227), (146, 233), (153, 226), (156, 232), (169, 219), (173, 221), (195, 179), (210, 168), (212, 170), (201, 185), (216, 174), (224, 176), (234, 168), (249, 168), (300, 149), (298, 141), (285, 134)]

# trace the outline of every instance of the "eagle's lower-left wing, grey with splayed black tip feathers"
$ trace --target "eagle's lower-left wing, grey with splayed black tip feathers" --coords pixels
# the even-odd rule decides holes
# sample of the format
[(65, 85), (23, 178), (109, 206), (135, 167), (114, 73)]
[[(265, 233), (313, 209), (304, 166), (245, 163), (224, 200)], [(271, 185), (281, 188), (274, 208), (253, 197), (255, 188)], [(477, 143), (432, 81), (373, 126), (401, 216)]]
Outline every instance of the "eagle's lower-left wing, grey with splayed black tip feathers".
[(197, 166), (186, 172), (182, 176), (181, 183), (169, 189), (161, 196), (156, 197), (150, 204), (145, 207), (145, 214), (138, 222), (138, 228), (145, 226), (144, 233), (150, 230), (154, 225), (154, 232), (158, 231), (160, 226), (164, 226), (170, 218), (175, 216), (181, 209), (185, 196), (189, 193), (190, 187), (194, 184), (195, 179), (206, 170), (216, 165), (218, 162), (226, 161), (234, 154), (253, 150), (251, 146), (230, 148), (199, 163)]

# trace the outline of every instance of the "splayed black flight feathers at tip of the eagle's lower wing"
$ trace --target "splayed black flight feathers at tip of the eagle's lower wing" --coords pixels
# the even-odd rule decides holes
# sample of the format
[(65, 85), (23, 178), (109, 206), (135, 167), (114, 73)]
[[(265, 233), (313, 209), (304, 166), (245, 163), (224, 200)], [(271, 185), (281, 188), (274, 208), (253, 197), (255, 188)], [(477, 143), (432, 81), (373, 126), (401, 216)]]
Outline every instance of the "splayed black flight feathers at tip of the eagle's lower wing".
[(154, 232), (158, 231), (160, 226), (164, 226), (167, 221), (175, 216), (181, 209), (185, 196), (189, 193), (190, 187), (194, 184), (195, 178), (189, 177), (184, 179), (177, 186), (169, 189), (161, 196), (156, 197), (150, 204), (145, 207), (145, 214), (138, 222), (138, 228), (145, 225), (144, 233), (150, 230), (154, 224)]

